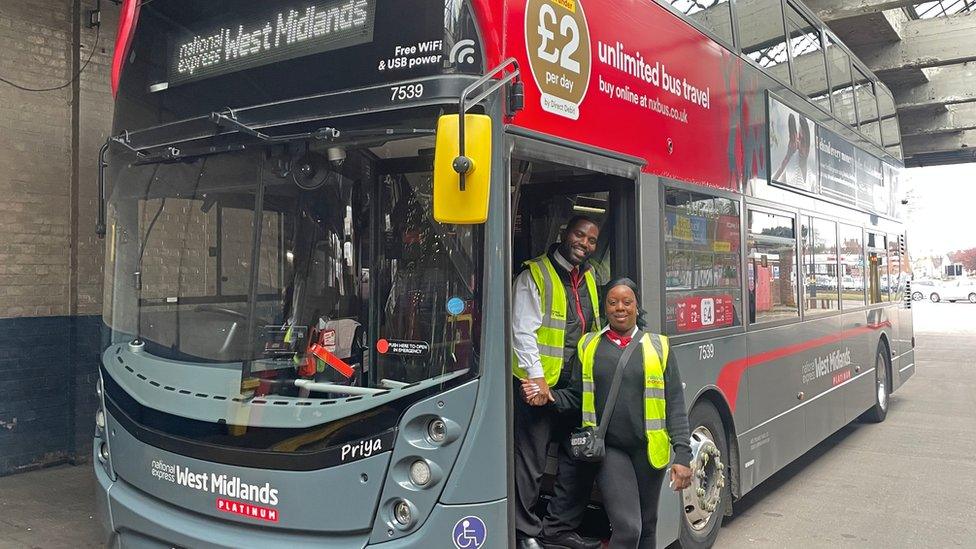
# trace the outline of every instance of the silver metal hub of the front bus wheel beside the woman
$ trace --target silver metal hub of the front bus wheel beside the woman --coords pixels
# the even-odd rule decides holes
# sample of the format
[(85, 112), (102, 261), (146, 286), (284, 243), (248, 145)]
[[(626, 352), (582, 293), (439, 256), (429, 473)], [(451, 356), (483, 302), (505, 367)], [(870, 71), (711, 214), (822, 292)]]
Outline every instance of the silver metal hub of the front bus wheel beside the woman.
[(695, 531), (704, 530), (718, 508), (725, 487), (725, 464), (712, 433), (698, 427), (691, 433), (691, 486), (681, 491), (685, 520)]

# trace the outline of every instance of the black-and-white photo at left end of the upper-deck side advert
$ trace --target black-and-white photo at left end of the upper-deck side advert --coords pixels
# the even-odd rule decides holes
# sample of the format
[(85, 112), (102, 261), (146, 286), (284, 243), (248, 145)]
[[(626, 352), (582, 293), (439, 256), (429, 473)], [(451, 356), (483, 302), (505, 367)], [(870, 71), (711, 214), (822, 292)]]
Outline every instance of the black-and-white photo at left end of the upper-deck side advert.
[(817, 191), (816, 132), (813, 120), (770, 97), (769, 164), (774, 183)]

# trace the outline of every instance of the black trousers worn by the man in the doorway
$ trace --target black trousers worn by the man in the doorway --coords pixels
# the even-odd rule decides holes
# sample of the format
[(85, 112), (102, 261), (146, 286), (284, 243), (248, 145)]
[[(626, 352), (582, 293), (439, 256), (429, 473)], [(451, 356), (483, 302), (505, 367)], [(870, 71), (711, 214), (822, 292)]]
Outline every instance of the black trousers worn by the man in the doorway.
[[(546, 456), (549, 443), (553, 440), (560, 441), (559, 447), (559, 470), (556, 474), (554, 491), (556, 497), (550, 502), (549, 514), (553, 515), (553, 505), (561, 511), (561, 517), (557, 524), (558, 531), (575, 530), (582, 520), (583, 511), (589, 502), (590, 490), (593, 486), (592, 473), (587, 484), (585, 496), (577, 498), (571, 502), (566, 498), (567, 494), (575, 494), (582, 491), (578, 486), (579, 473), (578, 462), (569, 458), (566, 454), (566, 444), (569, 440), (569, 432), (574, 426), (574, 420), (568, 415), (558, 414), (551, 407), (530, 406), (522, 400), (522, 384), (515, 380), (515, 413), (514, 416), (514, 438), (515, 438), (515, 532), (520, 538), (538, 537), (543, 533), (543, 522), (533, 512), (533, 508), (539, 501), (539, 489), (542, 484), (542, 475), (546, 469)], [(579, 418), (575, 419), (575, 425), (579, 424)], [(566, 454), (564, 456), (564, 454)], [(560, 494), (563, 496), (560, 497)], [(557, 500), (562, 503), (557, 503)], [(578, 507), (578, 512), (575, 510)], [(573, 519), (573, 517), (576, 517)], [(546, 534), (554, 531), (548, 528), (549, 518), (546, 519)]]

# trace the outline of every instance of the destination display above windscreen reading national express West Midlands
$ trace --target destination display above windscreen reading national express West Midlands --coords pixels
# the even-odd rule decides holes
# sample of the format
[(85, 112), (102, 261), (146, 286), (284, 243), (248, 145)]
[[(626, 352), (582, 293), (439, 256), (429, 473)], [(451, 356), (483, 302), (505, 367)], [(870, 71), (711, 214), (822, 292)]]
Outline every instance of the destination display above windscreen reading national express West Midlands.
[(174, 36), (175, 86), (373, 40), (376, 0), (306, 0), (264, 14), (228, 13), (199, 32)]

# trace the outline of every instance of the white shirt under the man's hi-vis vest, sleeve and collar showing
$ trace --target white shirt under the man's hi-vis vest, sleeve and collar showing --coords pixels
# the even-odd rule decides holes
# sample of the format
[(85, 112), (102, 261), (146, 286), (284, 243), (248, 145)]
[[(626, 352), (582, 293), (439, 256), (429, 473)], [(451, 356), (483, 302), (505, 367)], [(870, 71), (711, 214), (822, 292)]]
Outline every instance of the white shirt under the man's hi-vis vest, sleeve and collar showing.
[[(573, 270), (573, 264), (559, 250), (552, 255), (556, 258), (557, 266), (567, 273)], [(512, 347), (519, 366), (525, 369), (530, 378), (545, 377), (542, 359), (539, 358), (539, 341), (535, 335), (542, 326), (542, 297), (528, 269), (515, 277), (512, 317)]]

